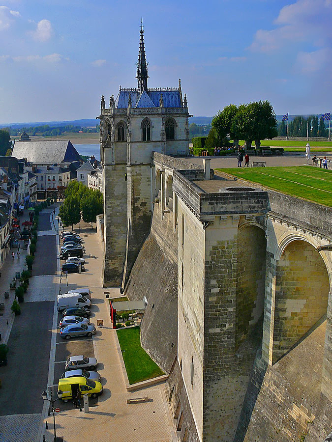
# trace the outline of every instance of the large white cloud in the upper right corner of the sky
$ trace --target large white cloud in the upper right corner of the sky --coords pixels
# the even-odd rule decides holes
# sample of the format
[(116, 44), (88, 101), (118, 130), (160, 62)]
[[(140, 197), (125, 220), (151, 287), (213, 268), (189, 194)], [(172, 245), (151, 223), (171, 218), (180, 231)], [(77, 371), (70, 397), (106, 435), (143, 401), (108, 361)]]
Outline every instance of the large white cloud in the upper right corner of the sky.
[(331, 0), (298, 0), (280, 10), (277, 28), (257, 30), (250, 49), (272, 52), (299, 42), (325, 46), (332, 37), (331, 21)]

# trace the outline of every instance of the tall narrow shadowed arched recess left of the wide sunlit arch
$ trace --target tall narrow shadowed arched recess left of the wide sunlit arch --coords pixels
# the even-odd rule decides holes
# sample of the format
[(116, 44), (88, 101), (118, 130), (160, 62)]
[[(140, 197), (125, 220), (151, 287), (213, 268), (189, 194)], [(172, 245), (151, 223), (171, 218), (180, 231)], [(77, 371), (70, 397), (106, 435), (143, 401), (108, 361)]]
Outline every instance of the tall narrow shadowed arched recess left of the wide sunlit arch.
[[(242, 218), (242, 217), (241, 217)], [(264, 315), (267, 241), (264, 228), (255, 221), (240, 219), (236, 286), (236, 344), (259, 327)], [(261, 345), (261, 339), (258, 345)]]

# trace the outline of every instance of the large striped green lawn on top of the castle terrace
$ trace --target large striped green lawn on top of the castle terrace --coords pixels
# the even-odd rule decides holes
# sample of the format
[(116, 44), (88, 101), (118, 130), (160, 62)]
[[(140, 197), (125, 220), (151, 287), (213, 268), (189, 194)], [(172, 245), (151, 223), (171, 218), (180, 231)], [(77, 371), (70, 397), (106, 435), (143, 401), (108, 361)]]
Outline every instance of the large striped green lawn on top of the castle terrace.
[(276, 191), (332, 207), (332, 170), (315, 166), (216, 169)]

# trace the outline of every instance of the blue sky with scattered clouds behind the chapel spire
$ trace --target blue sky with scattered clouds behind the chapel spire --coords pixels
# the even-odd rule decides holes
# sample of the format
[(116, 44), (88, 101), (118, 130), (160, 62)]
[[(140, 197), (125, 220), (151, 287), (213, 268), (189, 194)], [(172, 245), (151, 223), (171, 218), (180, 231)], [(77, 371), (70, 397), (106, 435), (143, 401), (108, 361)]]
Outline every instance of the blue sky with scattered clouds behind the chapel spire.
[(0, 0), (0, 123), (94, 118), (136, 87), (141, 16), (149, 86), (181, 78), (191, 114), (331, 111), (332, 0)]

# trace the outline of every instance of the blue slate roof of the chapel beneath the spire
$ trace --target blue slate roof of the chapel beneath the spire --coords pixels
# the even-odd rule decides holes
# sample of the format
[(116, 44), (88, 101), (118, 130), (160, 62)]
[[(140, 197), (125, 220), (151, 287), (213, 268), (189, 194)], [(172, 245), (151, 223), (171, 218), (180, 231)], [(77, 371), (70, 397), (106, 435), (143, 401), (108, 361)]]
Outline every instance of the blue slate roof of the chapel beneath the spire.
[(159, 108), (160, 94), (162, 94), (164, 108), (181, 108), (181, 97), (178, 89), (176, 90), (149, 90), (142, 94), (136, 90), (120, 90), (116, 100), (116, 109), (125, 109), (128, 107), (128, 97), (131, 96), (131, 106), (133, 108)]

